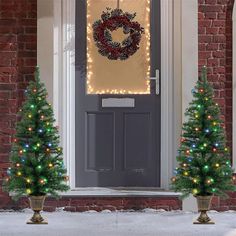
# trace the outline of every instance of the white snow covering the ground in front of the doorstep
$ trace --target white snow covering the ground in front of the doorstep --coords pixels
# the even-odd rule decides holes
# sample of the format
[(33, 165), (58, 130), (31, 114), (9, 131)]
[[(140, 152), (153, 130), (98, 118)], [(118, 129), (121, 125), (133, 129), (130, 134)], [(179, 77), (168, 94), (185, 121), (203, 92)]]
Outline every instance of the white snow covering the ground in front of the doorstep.
[(197, 213), (104, 211), (42, 213), (48, 225), (26, 225), (30, 210), (0, 213), (0, 236), (236, 236), (236, 212), (210, 212), (215, 225), (193, 225)]

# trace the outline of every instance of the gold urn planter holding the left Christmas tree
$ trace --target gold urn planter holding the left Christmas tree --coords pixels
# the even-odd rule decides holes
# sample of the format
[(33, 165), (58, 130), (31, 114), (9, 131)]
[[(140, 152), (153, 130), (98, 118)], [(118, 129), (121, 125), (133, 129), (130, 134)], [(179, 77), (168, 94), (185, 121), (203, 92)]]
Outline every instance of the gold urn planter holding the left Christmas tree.
[(48, 224), (47, 221), (43, 219), (40, 215), (40, 211), (43, 210), (43, 205), (46, 196), (30, 196), (30, 207), (34, 211), (34, 215), (32, 218), (27, 222), (27, 224)]

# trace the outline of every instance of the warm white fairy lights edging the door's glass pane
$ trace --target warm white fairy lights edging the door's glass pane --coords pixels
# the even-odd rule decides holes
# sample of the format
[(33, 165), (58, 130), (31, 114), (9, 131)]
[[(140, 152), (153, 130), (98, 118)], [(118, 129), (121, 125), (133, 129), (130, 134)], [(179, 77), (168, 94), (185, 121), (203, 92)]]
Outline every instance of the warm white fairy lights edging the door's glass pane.
[[(123, 0), (121, 0), (123, 2)], [(150, 94), (150, 0), (147, 0), (146, 6), (146, 27), (145, 27), (145, 38), (146, 38), (146, 91), (132, 91), (126, 89), (103, 89), (94, 90), (92, 86), (92, 64), (93, 59), (91, 56), (91, 41), (92, 41), (92, 25), (90, 22), (91, 12), (90, 12), (91, 0), (87, 0), (87, 94)]]

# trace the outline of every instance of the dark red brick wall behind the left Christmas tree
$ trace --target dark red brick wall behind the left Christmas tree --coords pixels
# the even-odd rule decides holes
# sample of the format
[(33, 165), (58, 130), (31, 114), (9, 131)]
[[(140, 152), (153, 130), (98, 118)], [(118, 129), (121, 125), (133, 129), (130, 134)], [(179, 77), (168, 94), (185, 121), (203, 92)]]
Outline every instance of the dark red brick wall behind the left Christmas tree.
[[(37, 63), (36, 39), (37, 0), (0, 0), (0, 178), (8, 167), (16, 112)], [(3, 207), (9, 198), (1, 182)]]

